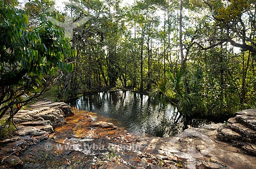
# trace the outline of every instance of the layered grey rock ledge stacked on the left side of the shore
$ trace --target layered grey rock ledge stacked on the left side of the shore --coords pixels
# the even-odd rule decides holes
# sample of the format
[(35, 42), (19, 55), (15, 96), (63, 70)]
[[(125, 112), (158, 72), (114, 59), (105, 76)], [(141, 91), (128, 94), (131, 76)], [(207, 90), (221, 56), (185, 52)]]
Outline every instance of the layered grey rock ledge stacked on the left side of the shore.
[(74, 115), (67, 103), (40, 101), (21, 109), (13, 118), (15, 135), (0, 141), (0, 168), (21, 168), (19, 156), (31, 145), (48, 139), (56, 127), (66, 124), (65, 117)]

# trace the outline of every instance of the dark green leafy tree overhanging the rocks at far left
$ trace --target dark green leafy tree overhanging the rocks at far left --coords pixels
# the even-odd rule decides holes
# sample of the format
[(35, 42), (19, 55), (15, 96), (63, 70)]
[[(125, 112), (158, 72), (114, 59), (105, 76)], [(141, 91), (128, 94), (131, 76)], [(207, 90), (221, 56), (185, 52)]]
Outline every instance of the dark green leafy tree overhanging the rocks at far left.
[(31, 26), (24, 10), (0, 4), (0, 119), (10, 111), (7, 124), (19, 108), (49, 90), (61, 70), (72, 72), (66, 59), (76, 52), (65, 32), (44, 14)]

